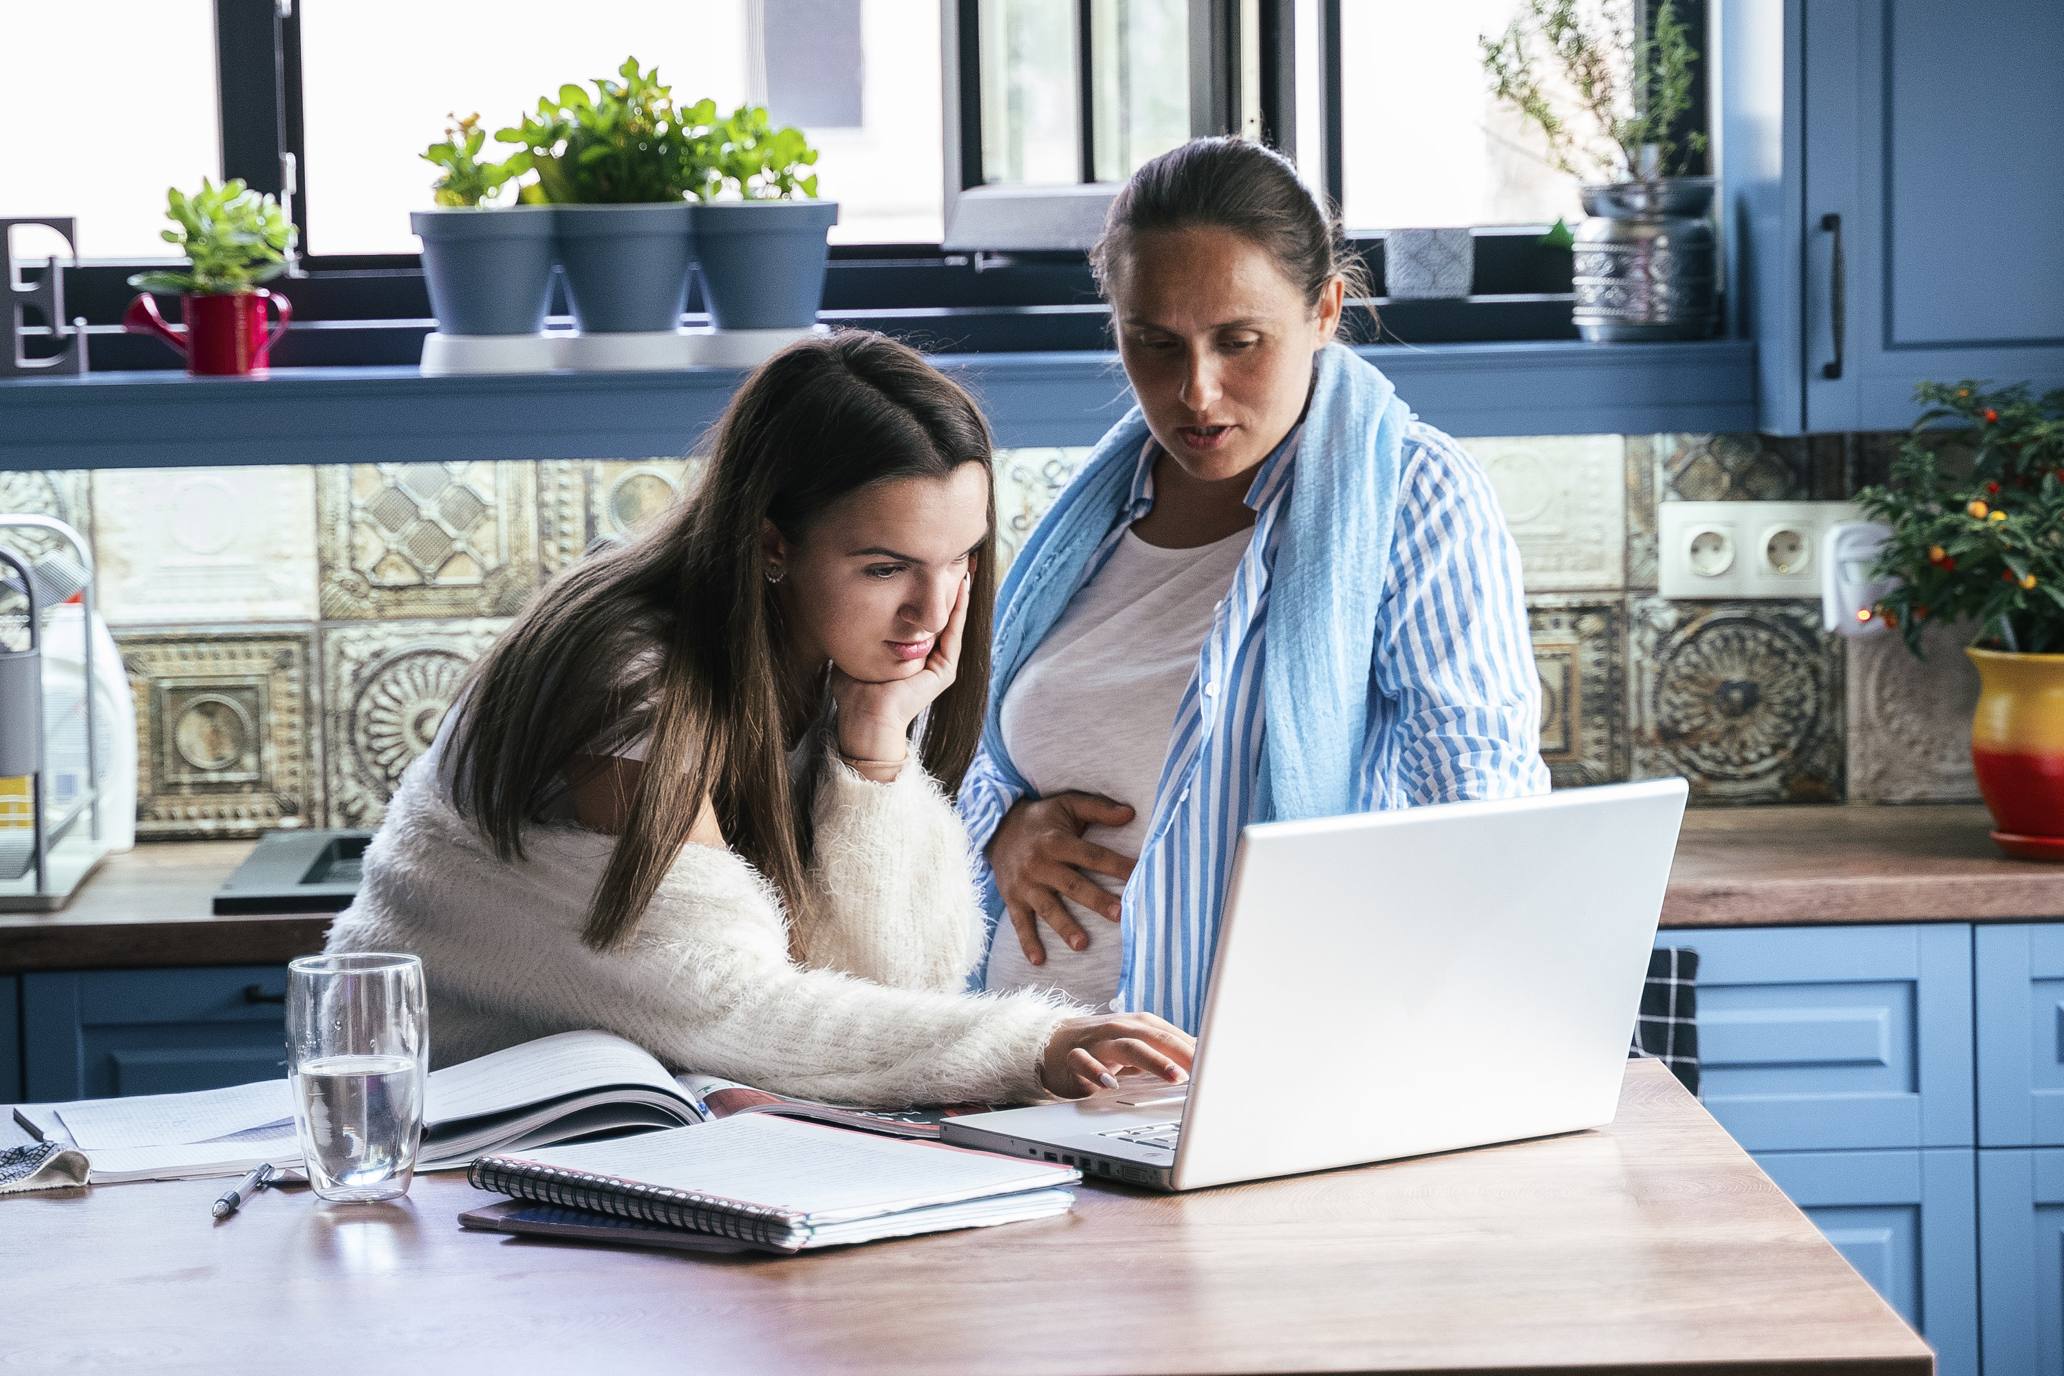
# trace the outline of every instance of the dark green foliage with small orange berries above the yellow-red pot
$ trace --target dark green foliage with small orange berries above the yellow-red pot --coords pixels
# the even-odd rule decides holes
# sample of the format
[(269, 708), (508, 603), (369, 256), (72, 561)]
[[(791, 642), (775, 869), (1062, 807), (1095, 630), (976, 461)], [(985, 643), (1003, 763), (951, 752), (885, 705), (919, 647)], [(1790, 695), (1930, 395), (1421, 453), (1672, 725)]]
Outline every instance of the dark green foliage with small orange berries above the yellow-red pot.
[[(1889, 483), (1856, 495), (1893, 528), (1872, 576), (1899, 588), (1876, 615), (1913, 654), (1928, 619), (1975, 621), (1975, 644), (1992, 650), (2064, 652), (2064, 390), (1924, 382), (1915, 398), (1928, 411)], [(1942, 444), (1959, 421), (1975, 444), (1969, 468)]]

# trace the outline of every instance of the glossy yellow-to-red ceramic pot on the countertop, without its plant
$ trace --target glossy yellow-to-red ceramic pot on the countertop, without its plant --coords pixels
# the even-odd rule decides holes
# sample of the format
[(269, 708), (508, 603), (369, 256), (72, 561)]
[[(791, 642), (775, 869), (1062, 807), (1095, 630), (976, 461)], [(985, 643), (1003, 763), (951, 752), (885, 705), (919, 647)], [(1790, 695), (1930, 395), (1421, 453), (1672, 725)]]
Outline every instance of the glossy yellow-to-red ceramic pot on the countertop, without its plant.
[(1977, 664), (1971, 765), (2000, 850), (2064, 860), (2064, 654), (1965, 650)]

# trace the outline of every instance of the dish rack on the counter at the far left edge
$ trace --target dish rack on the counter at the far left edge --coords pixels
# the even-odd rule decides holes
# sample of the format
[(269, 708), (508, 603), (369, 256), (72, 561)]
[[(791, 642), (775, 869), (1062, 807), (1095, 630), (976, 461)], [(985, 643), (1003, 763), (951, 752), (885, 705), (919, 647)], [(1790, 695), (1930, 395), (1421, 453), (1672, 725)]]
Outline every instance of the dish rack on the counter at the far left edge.
[[(47, 516), (0, 516), (0, 530), (56, 536), (35, 557), (0, 549), (0, 912), (56, 912), (109, 850), (97, 788), (105, 743), (93, 730), (93, 553)], [(74, 596), (85, 673), (78, 691), (45, 695), (43, 648)]]

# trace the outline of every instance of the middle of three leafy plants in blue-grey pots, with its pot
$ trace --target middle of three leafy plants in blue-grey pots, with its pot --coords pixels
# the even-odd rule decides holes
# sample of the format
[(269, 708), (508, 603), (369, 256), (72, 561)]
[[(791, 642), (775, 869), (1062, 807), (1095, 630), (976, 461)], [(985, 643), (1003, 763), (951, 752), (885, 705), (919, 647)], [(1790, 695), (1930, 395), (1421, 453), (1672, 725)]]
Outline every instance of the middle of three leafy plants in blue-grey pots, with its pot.
[(694, 144), (658, 68), (638, 58), (594, 95), (559, 87), (537, 113), (495, 134), (530, 151), (537, 184), (524, 202), (555, 206), (566, 295), (582, 334), (675, 332), (687, 297)]

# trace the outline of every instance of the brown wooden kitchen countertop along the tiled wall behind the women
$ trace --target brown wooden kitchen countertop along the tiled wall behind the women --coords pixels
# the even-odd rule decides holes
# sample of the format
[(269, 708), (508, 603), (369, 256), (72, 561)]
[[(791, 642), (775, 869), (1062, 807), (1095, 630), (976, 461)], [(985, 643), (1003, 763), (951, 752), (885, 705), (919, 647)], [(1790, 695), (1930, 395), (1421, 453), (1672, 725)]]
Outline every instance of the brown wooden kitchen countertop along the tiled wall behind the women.
[[(2064, 864), (2010, 860), (1981, 807), (1744, 807), (1684, 815), (1662, 924), (2064, 918)], [(208, 914), (252, 842), (109, 856), (72, 906), (0, 914), (0, 974), (277, 965), (322, 949), (328, 914)]]

